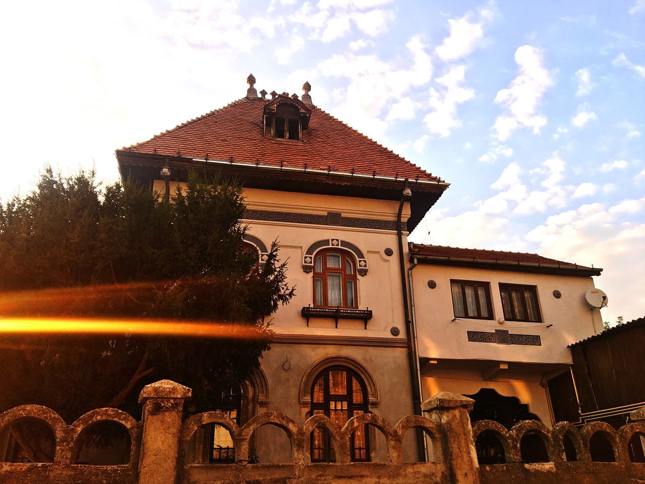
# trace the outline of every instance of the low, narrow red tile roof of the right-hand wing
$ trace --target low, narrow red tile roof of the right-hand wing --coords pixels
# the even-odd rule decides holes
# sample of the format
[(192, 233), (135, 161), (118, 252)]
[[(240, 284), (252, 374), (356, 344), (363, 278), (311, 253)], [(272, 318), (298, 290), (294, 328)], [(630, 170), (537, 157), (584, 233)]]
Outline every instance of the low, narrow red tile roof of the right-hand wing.
[(513, 265), (523, 267), (542, 267), (562, 270), (580, 270), (582, 272), (597, 272), (600, 275), (601, 268), (586, 267), (570, 262), (558, 261), (542, 257), (539, 254), (528, 254), (526, 252), (504, 252), (502, 250), (483, 250), (479, 248), (446, 247), (442, 245), (424, 245), (410, 243), (411, 256), (429, 256), (435, 260), (444, 261), (471, 261), (473, 263), (502, 264), (506, 267)]

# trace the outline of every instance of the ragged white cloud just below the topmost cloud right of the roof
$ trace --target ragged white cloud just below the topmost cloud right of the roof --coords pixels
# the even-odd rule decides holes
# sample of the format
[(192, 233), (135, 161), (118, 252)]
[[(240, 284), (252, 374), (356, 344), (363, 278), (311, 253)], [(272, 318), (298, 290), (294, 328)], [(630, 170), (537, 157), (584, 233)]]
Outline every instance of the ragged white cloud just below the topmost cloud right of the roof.
[(431, 133), (446, 137), (451, 130), (461, 126), (461, 120), (457, 117), (457, 105), (475, 97), (475, 91), (462, 86), (465, 73), (466, 66), (454, 66), (448, 74), (436, 80), (441, 86), (439, 90), (430, 89), (429, 103), (432, 112), (426, 114), (423, 122)]

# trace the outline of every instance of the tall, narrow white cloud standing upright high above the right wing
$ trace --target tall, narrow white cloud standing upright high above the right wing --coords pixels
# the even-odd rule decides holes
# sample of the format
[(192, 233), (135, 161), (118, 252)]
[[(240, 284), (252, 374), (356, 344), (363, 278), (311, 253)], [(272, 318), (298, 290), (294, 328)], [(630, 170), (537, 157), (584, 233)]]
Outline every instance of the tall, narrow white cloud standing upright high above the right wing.
[(507, 111), (495, 119), (493, 126), (499, 141), (508, 139), (520, 126), (533, 128), (537, 134), (546, 125), (546, 117), (535, 113), (544, 92), (553, 84), (542, 65), (542, 54), (533, 46), (523, 45), (515, 51), (515, 63), (519, 66), (519, 75), (495, 96), (495, 103)]

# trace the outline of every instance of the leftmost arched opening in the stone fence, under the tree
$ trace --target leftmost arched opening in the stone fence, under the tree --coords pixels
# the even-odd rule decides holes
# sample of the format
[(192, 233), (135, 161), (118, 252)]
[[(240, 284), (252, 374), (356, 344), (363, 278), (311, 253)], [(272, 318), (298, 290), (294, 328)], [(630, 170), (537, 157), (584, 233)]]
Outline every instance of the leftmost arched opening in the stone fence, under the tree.
[(54, 461), (56, 439), (54, 432), (44, 421), (35, 418), (21, 419), (10, 423), (5, 432), (3, 462)]

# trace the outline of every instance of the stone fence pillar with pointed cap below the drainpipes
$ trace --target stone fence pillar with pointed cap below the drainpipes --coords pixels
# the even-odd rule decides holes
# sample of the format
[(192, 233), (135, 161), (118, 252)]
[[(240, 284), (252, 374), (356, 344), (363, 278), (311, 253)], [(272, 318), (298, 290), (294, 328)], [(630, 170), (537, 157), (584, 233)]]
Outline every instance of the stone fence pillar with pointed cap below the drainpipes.
[(443, 459), (452, 484), (479, 484), (479, 464), (468, 412), (475, 400), (441, 392), (422, 403), (421, 409), (442, 430)]

